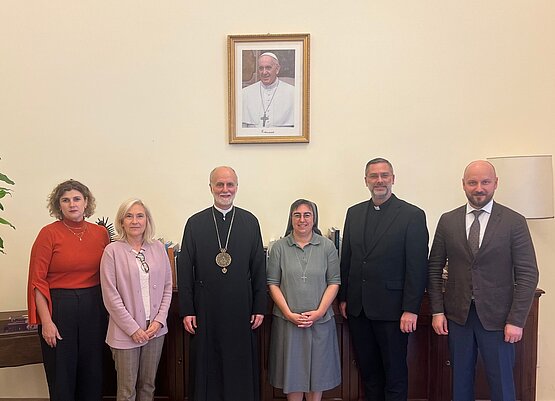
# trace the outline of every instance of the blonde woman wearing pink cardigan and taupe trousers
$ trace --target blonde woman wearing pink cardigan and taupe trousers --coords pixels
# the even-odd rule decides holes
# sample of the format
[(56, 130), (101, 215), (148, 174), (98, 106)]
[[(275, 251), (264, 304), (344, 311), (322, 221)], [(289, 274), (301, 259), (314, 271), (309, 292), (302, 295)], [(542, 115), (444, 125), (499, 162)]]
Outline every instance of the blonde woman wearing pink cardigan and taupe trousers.
[(152, 400), (168, 332), (172, 278), (164, 245), (139, 199), (124, 202), (115, 220), (116, 242), (104, 250), (100, 284), (110, 314), (106, 343), (117, 371), (117, 400)]

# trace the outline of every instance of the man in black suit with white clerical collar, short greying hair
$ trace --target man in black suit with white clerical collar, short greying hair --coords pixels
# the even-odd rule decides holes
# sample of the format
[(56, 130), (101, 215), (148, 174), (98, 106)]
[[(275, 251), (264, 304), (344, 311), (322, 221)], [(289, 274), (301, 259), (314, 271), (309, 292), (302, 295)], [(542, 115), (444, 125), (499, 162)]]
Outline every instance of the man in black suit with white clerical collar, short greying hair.
[(366, 164), (371, 199), (347, 211), (341, 251), (341, 314), (349, 324), (368, 401), (406, 401), (407, 343), (427, 282), (424, 212), (391, 192), (393, 166)]

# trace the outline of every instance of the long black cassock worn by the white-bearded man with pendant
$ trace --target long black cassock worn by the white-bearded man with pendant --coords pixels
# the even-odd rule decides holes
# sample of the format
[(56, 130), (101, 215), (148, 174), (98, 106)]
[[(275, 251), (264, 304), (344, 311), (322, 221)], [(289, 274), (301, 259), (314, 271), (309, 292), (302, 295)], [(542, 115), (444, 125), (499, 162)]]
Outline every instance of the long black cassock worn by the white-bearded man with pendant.
[[(216, 264), (220, 241), (227, 252), (227, 272)], [(185, 225), (178, 258), (180, 315), (196, 315), (191, 336), (190, 392), (192, 401), (257, 401), (260, 399), (258, 345), (251, 329), (253, 314), (267, 307), (266, 266), (256, 217), (238, 207), (223, 219), (210, 207)]]

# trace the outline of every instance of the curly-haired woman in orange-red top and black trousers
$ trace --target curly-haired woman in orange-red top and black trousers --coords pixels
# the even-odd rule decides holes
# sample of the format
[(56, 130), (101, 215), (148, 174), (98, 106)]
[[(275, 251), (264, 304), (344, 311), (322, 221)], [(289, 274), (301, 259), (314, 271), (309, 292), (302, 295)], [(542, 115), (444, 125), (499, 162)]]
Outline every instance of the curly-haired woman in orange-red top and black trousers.
[(110, 242), (88, 223), (95, 199), (85, 185), (62, 182), (50, 194), (57, 219), (39, 232), (29, 263), (29, 323), (39, 325), (51, 400), (99, 401), (107, 314), (100, 291), (100, 259)]

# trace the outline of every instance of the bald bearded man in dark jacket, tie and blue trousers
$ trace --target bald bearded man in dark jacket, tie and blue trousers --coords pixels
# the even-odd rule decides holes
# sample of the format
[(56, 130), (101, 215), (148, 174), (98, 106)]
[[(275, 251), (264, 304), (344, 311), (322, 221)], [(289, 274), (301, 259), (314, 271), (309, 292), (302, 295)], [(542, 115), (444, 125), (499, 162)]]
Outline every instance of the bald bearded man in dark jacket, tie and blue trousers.
[(449, 334), (453, 401), (475, 399), (478, 350), (491, 400), (515, 400), (514, 343), (522, 338), (538, 283), (534, 246), (524, 217), (493, 200), (491, 163), (470, 163), (462, 185), (468, 204), (441, 216), (430, 252), (432, 326)]

